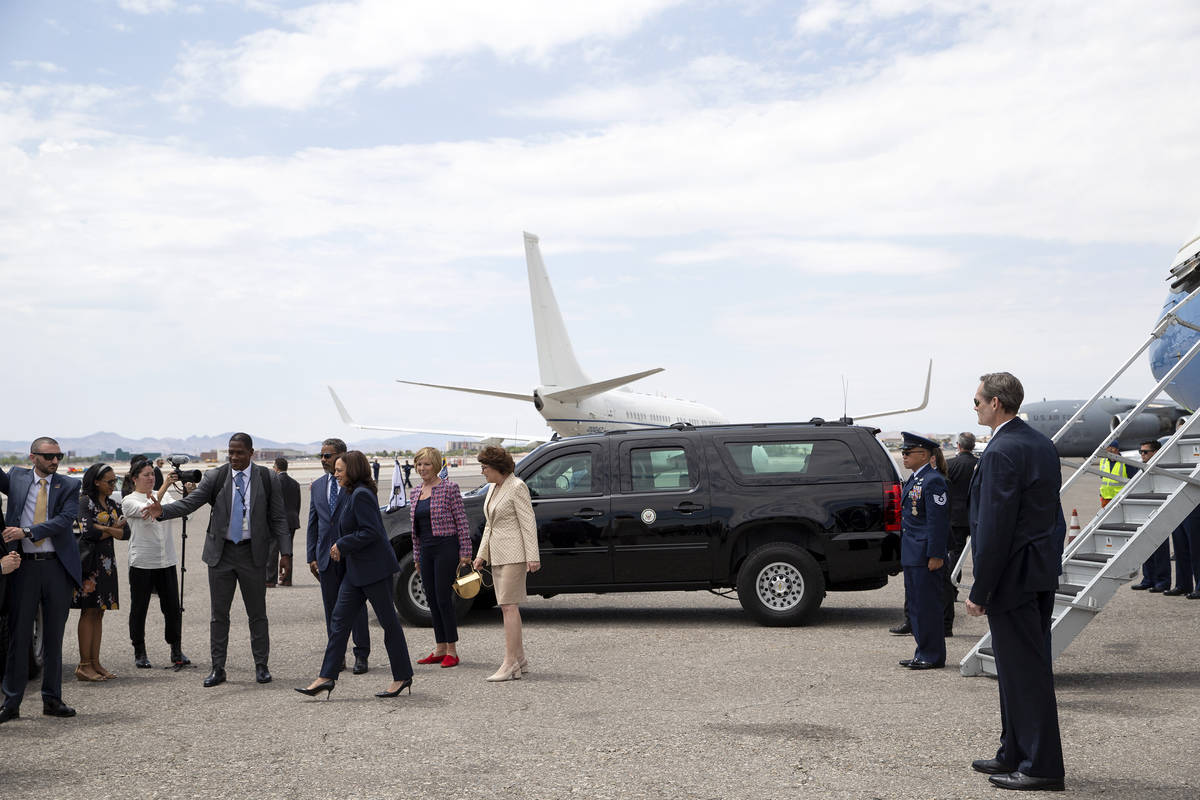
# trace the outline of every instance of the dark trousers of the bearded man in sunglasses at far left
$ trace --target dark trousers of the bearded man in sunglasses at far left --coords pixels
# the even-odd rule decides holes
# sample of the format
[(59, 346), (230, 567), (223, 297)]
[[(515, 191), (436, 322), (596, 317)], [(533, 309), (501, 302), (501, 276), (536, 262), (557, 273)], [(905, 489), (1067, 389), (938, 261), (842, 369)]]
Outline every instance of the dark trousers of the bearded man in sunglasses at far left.
[(42, 607), (42, 699), (62, 699), (62, 632), (71, 610), (74, 582), (58, 557), (25, 557), (20, 569), (8, 576), (8, 660), (4, 673), (4, 704), (19, 709), (29, 682), (29, 648), (34, 639), (34, 618)]

